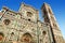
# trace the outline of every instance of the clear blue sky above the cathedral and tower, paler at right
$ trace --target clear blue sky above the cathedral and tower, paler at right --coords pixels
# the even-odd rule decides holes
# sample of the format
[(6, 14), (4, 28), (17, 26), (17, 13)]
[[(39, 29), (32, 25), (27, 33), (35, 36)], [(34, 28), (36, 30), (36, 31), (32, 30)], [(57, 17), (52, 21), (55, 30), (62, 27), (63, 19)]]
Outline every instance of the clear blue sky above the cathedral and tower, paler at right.
[(62, 34), (65, 38), (65, 0), (0, 0), (0, 10), (5, 5), (9, 9), (17, 12), (22, 2), (30, 4), (35, 9), (39, 10), (40, 18), (42, 15), (41, 5), (43, 2), (49, 3), (56, 17), (57, 24), (60, 25)]

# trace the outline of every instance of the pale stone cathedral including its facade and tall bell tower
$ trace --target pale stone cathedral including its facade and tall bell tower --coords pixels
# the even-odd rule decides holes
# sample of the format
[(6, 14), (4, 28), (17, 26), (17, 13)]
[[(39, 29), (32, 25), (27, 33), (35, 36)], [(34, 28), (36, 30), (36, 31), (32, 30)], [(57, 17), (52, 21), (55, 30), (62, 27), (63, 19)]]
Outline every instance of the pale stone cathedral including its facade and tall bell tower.
[(54, 14), (48, 3), (39, 11), (22, 3), (18, 12), (3, 6), (0, 12), (0, 43), (65, 43)]

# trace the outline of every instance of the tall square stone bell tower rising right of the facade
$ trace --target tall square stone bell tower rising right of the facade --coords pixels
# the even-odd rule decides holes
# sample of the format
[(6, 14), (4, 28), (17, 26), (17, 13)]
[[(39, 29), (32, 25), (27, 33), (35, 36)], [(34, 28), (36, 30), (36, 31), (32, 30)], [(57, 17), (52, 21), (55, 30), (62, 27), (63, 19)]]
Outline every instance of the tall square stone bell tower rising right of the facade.
[(43, 3), (41, 11), (43, 13), (44, 23), (50, 24), (50, 30), (52, 33), (52, 43), (64, 43), (63, 35), (53, 15), (53, 12), (49, 4)]

